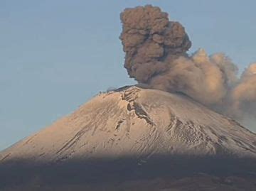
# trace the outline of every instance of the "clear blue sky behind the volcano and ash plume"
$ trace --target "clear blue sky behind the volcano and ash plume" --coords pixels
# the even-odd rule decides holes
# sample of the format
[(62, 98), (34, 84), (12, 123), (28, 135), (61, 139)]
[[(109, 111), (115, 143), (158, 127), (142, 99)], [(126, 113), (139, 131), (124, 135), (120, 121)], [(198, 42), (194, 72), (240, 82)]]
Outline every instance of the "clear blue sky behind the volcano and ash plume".
[(0, 0), (0, 150), (108, 87), (134, 84), (123, 68), (119, 13), (160, 6), (193, 42), (242, 71), (256, 62), (256, 1)]

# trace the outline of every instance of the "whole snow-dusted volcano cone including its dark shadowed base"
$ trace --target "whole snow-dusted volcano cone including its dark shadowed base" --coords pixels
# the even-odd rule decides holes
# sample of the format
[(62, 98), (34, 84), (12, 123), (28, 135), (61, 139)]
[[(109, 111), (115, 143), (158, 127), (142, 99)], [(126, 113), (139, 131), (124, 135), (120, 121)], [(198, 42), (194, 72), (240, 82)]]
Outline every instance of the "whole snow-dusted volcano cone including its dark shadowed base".
[(255, 180), (255, 160), (256, 135), (236, 121), (184, 94), (132, 86), (100, 93), (2, 151), (0, 178), (8, 187), (27, 185), (35, 175), (47, 185), (88, 185), (198, 173), (213, 182), (242, 174), (237, 183), (250, 179), (245, 174)]

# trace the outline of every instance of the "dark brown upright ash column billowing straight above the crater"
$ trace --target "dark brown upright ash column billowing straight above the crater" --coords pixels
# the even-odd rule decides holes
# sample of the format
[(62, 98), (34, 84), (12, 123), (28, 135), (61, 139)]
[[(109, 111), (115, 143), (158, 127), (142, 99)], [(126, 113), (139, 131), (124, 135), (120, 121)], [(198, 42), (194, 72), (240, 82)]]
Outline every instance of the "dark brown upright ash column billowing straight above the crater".
[(166, 60), (185, 55), (191, 41), (180, 23), (169, 21), (158, 7), (139, 6), (121, 13), (120, 36), (130, 77), (149, 83), (151, 78), (169, 70)]

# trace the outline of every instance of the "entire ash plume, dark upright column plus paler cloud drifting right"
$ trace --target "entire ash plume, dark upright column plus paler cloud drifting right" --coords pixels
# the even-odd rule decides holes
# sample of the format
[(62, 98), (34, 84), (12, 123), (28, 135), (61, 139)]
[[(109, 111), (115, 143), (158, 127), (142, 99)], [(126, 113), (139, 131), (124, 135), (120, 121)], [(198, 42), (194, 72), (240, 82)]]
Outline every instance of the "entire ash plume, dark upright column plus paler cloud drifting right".
[(122, 21), (124, 67), (143, 86), (182, 92), (227, 116), (256, 117), (256, 64), (238, 77), (238, 67), (223, 53), (208, 56), (199, 49), (188, 55), (185, 28), (169, 21), (156, 6), (125, 9)]

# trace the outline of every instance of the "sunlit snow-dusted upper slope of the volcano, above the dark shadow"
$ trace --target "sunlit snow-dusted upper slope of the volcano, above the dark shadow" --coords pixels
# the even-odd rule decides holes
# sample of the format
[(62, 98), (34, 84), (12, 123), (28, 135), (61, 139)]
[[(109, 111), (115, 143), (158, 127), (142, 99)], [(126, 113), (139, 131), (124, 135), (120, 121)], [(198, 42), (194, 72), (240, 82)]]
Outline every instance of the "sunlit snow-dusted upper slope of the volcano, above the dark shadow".
[(181, 94), (124, 87), (0, 153), (0, 163), (154, 155), (256, 157), (256, 135)]

